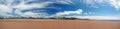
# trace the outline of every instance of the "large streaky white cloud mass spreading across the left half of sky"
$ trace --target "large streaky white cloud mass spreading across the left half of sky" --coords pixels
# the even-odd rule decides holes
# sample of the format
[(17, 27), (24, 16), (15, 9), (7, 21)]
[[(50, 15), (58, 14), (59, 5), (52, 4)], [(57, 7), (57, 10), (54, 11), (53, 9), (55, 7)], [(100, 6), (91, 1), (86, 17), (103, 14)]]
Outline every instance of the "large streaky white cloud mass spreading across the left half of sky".
[(27, 16), (27, 17), (38, 17), (48, 15), (47, 13), (36, 13), (32, 11), (22, 12), (24, 10), (46, 8), (46, 6), (52, 3), (63, 3), (71, 4), (72, 0), (0, 0), (0, 16), (3, 17), (14, 17), (14, 16)]

